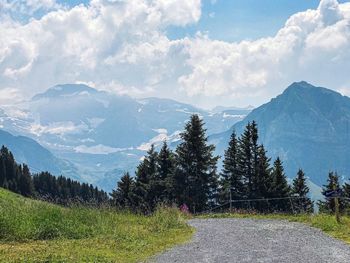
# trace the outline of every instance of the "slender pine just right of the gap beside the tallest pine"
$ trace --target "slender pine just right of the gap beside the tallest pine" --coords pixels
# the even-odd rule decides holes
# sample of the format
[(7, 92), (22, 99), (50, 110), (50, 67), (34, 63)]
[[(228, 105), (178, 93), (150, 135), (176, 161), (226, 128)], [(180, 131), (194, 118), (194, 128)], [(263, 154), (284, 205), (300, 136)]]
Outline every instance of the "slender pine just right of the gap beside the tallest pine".
[[(238, 167), (238, 140), (236, 138), (236, 133), (233, 131), (223, 160), (220, 180), (221, 203), (227, 202), (230, 195), (232, 200), (234, 200), (242, 198), (242, 194), (242, 173), (239, 171)], [(239, 204), (236, 205), (239, 206)]]

